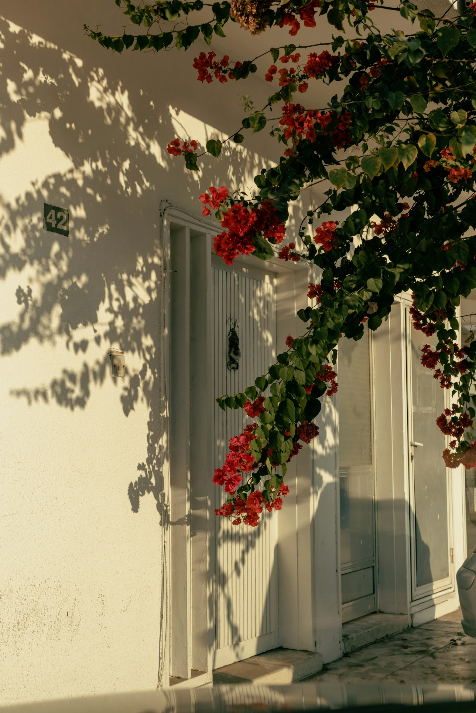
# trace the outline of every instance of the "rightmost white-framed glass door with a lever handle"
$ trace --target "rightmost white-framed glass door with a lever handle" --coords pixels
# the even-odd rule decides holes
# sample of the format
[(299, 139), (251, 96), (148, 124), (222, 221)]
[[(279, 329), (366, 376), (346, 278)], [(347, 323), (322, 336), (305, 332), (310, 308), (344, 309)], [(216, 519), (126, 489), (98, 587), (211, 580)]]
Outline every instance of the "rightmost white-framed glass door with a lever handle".
[(436, 419), (445, 410), (446, 389), (422, 366), (422, 347), (437, 338), (417, 332), (407, 316), (407, 394), (410, 455), (410, 550), (412, 599), (451, 585), (450, 483), (442, 459), (445, 436)]

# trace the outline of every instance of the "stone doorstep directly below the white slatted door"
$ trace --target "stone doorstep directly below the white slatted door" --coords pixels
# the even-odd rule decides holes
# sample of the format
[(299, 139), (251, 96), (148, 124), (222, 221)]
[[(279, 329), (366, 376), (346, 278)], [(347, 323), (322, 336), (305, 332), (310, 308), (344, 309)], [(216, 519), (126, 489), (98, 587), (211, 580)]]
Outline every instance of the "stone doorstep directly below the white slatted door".
[(323, 657), (310, 651), (273, 649), (213, 671), (213, 683), (257, 683), (284, 686), (317, 673)]

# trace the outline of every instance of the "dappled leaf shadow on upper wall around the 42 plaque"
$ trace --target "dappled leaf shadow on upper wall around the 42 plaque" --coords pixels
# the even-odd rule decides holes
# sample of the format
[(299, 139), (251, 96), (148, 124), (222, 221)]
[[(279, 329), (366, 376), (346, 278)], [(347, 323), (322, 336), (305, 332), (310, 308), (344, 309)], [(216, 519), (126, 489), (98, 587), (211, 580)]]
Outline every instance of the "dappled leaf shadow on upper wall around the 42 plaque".
[[(141, 401), (149, 414), (146, 458), (128, 497), (137, 512), (141, 497), (152, 493), (168, 521), (161, 200), (195, 200), (198, 180), (216, 183), (210, 176), (223, 164), (228, 173), (246, 175), (256, 156), (226, 145), (223, 163), (211, 159), (200, 178), (184, 173), (181, 160), (169, 160), (165, 147), (176, 135), (178, 106), (191, 111), (194, 101), (168, 80), (171, 68), (177, 71), (176, 57), (160, 58), (163, 73), (139, 86), (130, 60), (120, 63), (123, 58), (93, 43), (91, 57), (104, 61), (108, 76), (93, 59), (41, 39), (41, 27), (26, 30), (0, 18), (0, 41), (0, 162), (10, 172), (3, 183), (0, 176), (0, 189), (6, 187), (0, 193), (0, 280), (16, 276), (19, 305), (16, 317), (0, 325), (0, 354), (19, 352), (34, 339), (85, 355), (77, 371), (61, 369), (34, 388), (18, 384), (11, 395), (29, 405), (84, 409), (91, 389), (108, 376), (108, 347), (121, 347), (128, 372), (121, 384), (123, 413)], [(152, 58), (138, 61), (149, 67)], [(189, 58), (184, 61), (188, 67)], [(60, 170), (51, 169), (52, 155)], [(69, 237), (43, 229), (44, 202), (69, 208)], [(94, 344), (105, 356), (88, 361)]]

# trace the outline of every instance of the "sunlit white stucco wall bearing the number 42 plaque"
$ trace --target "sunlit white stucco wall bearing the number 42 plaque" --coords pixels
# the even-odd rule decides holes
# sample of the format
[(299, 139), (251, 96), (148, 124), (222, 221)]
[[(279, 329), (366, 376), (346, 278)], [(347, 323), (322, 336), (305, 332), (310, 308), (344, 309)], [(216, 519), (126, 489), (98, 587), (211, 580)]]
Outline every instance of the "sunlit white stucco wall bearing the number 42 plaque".
[[(161, 205), (200, 215), (203, 190), (252, 184), (254, 150), (273, 144), (188, 173), (168, 141), (204, 145), (244, 116), (239, 87), (196, 81), (202, 47), (107, 52), (83, 23), (121, 31), (109, 0), (1, 1), (0, 16), (0, 704), (153, 689), (167, 657)], [(69, 238), (44, 232), (44, 201), (69, 207)]]

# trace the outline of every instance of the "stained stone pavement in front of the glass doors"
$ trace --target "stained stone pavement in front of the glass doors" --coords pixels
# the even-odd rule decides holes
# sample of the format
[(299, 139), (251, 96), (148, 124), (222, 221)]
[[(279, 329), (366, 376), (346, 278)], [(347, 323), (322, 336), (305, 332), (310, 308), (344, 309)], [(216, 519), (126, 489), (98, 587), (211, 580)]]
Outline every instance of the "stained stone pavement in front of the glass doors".
[(461, 628), (462, 614), (407, 629), (345, 654), (305, 679), (320, 683), (452, 683), (476, 682), (476, 639)]

